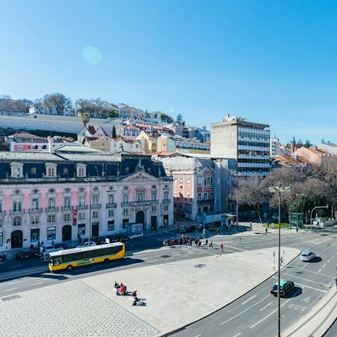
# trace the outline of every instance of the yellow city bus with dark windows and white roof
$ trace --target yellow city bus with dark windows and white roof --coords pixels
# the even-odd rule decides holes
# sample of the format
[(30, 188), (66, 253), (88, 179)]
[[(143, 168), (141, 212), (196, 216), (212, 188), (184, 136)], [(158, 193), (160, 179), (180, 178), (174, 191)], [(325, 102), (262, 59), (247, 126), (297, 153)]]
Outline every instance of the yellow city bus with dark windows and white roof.
[(51, 261), (49, 270), (72, 270), (81, 265), (93, 265), (95, 263), (108, 263), (112, 260), (124, 258), (125, 245), (121, 242), (113, 244), (100, 244), (84, 248), (65, 249), (49, 253)]

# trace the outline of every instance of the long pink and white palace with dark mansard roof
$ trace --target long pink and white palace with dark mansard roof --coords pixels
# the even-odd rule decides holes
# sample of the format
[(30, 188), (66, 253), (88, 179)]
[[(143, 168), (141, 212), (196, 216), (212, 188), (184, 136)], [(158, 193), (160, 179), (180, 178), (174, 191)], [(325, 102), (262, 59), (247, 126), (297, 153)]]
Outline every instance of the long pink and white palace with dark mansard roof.
[(173, 225), (173, 180), (148, 156), (0, 152), (0, 181), (0, 250)]

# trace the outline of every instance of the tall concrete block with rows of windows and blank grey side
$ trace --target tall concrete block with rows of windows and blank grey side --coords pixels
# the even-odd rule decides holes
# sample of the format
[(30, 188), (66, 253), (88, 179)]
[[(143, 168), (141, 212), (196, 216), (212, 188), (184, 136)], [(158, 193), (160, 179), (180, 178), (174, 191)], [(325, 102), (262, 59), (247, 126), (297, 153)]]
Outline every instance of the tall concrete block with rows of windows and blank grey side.
[(211, 124), (211, 156), (234, 158), (242, 176), (267, 176), (270, 171), (269, 125), (227, 115)]

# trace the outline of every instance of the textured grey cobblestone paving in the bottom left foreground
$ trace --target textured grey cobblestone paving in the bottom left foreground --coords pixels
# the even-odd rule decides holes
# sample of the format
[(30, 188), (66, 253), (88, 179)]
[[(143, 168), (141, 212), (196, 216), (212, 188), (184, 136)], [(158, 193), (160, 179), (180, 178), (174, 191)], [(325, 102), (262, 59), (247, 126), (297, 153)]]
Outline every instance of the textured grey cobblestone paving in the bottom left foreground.
[(0, 312), (1, 337), (150, 337), (159, 333), (81, 281), (1, 298)]

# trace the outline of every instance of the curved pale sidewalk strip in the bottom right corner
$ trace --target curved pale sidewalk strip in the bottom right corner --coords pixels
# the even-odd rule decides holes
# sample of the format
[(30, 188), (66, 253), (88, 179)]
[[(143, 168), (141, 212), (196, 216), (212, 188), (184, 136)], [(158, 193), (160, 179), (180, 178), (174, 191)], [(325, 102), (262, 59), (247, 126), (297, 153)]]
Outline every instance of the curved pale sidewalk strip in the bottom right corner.
[(282, 337), (321, 337), (330, 328), (337, 317), (337, 291), (332, 286), (319, 303), (296, 324), (286, 329)]

